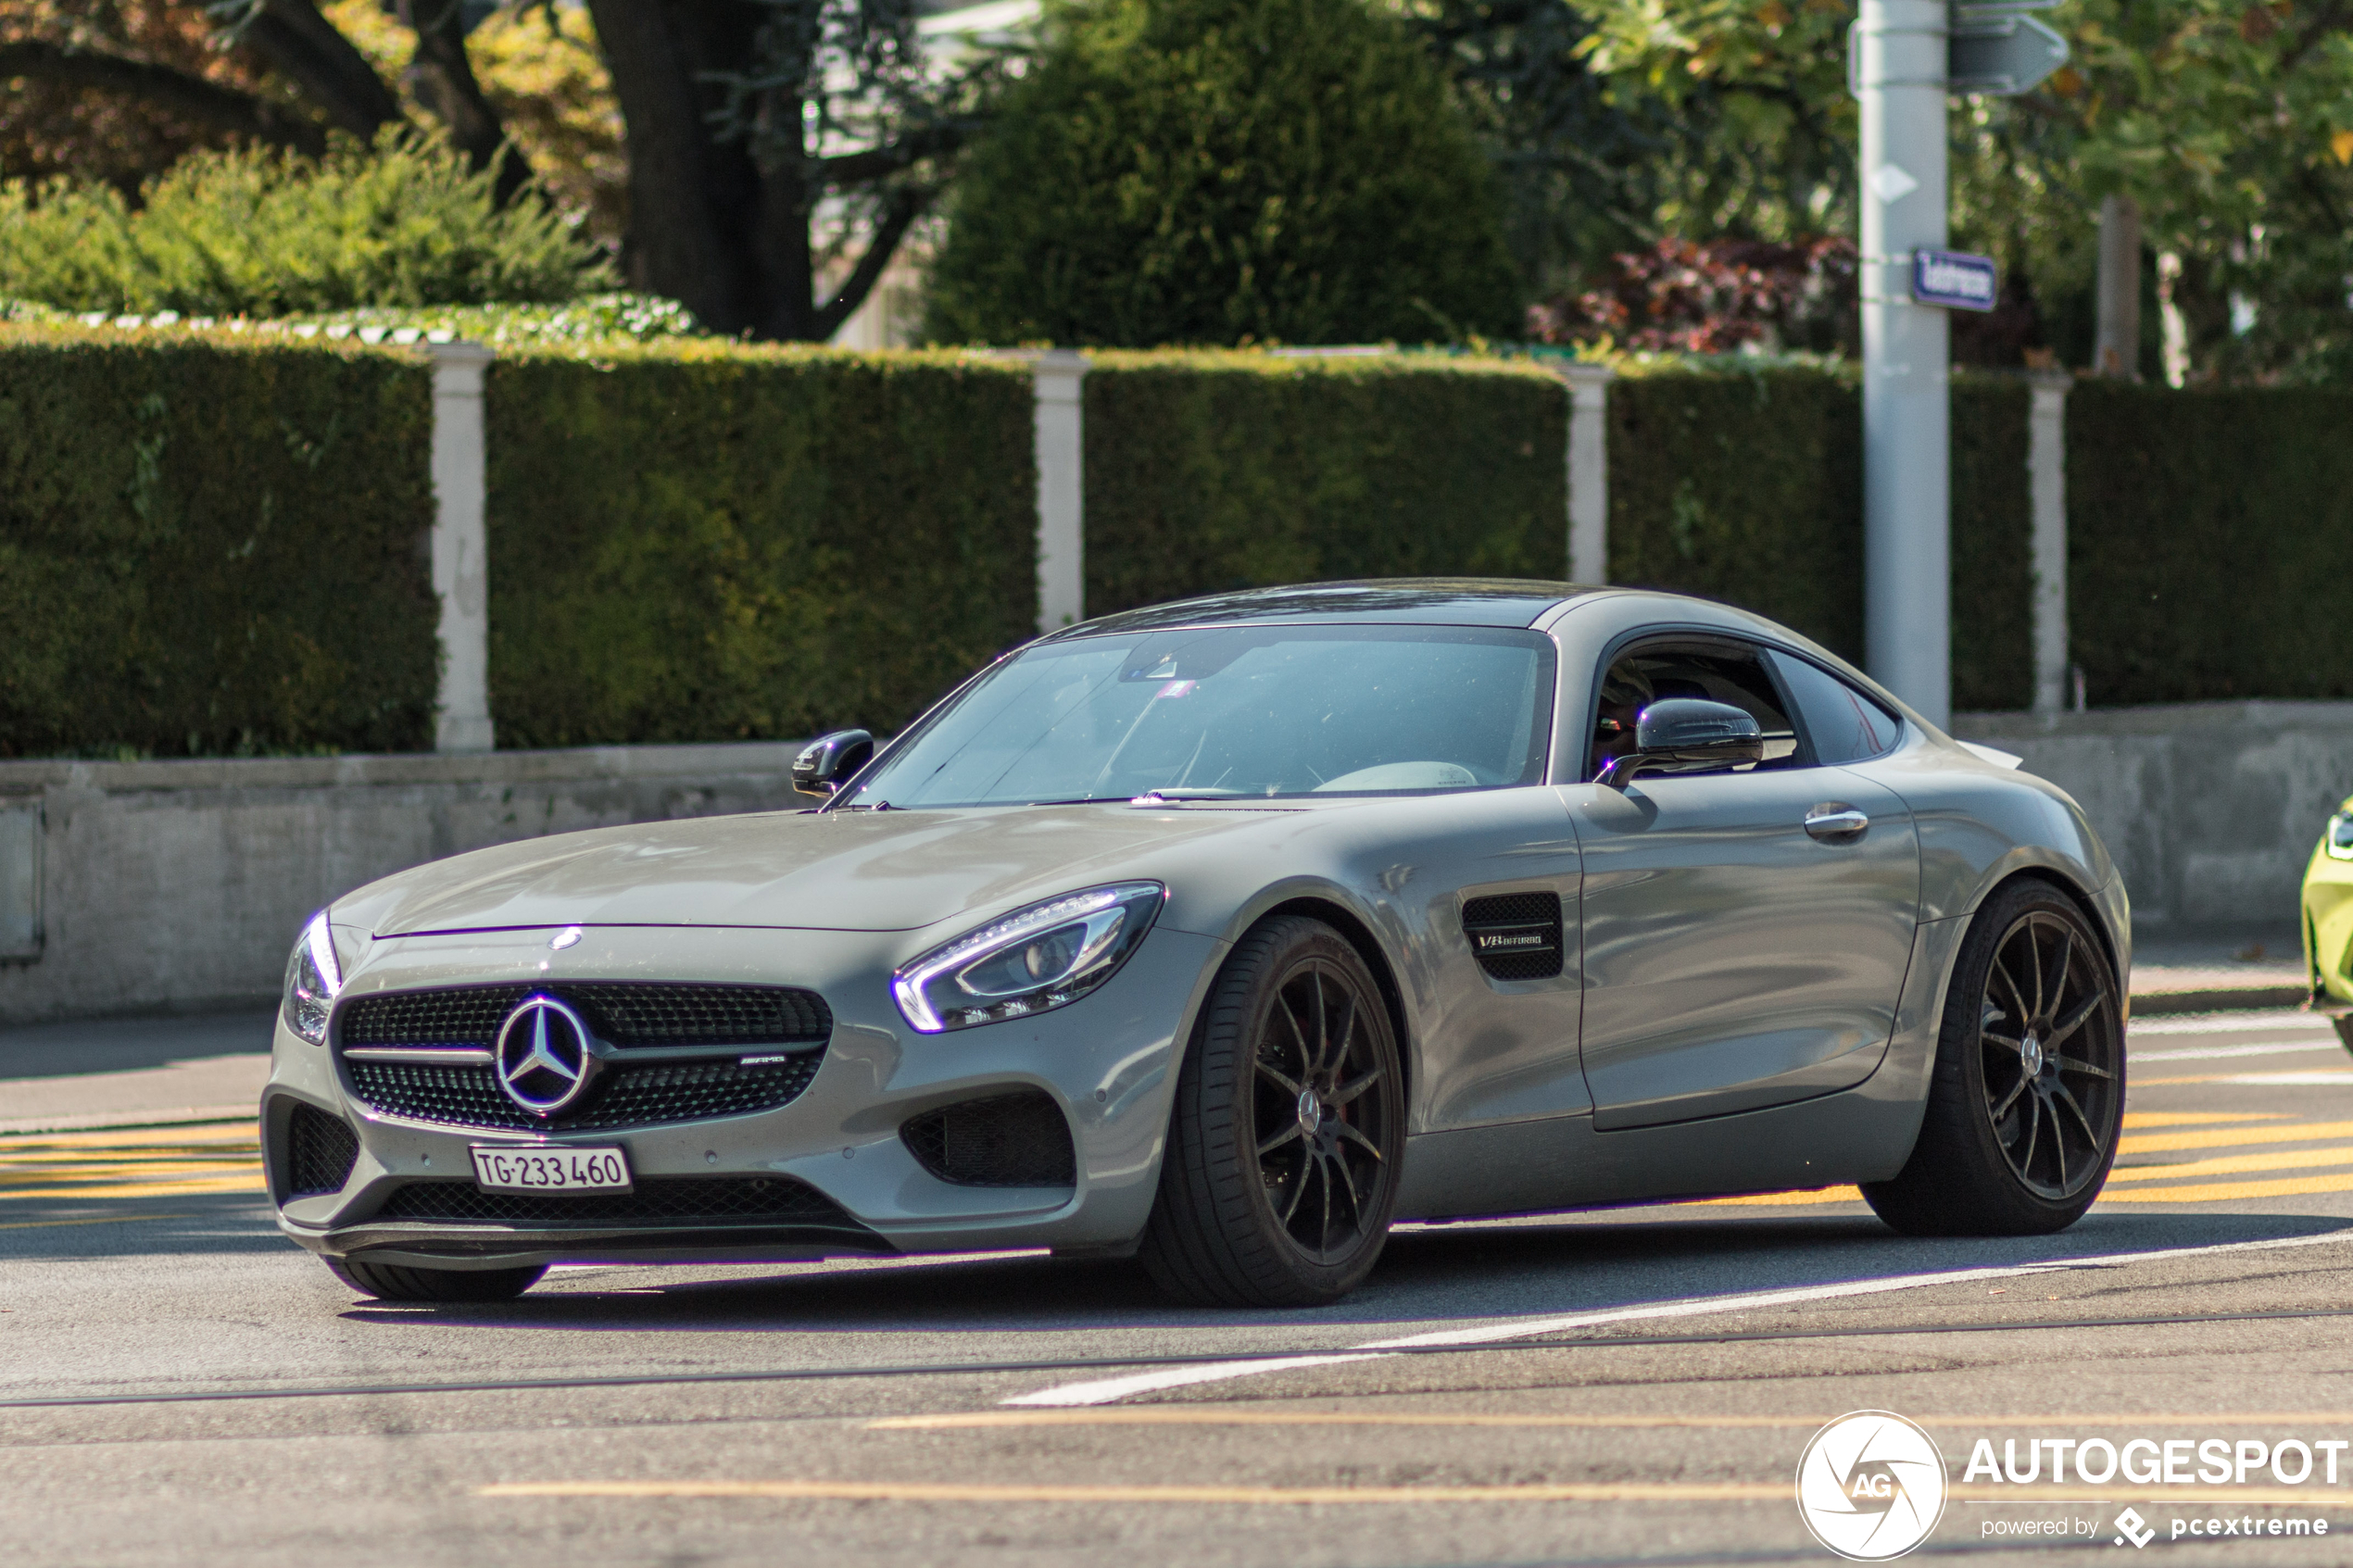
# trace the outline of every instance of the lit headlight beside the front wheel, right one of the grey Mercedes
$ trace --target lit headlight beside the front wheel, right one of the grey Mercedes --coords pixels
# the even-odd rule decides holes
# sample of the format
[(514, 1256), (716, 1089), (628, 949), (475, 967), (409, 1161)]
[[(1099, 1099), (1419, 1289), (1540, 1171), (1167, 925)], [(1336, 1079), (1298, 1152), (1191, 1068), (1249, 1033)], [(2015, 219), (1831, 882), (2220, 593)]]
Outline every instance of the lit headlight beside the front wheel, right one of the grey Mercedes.
[(899, 1011), (939, 1034), (1078, 1001), (1120, 971), (1162, 898), (1158, 882), (1120, 882), (1016, 910), (892, 976)]

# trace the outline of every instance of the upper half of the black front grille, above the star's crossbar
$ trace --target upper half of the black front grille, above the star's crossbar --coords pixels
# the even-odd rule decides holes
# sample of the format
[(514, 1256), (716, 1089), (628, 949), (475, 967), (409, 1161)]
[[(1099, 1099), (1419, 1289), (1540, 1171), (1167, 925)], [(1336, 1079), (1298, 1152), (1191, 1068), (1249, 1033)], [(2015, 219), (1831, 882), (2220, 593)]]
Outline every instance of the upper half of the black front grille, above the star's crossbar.
[(833, 1034), (833, 1009), (791, 985), (652, 985), (560, 980), (555, 985), (456, 985), (384, 992), (351, 1001), (336, 1020), (346, 1046), (482, 1046), (525, 997), (572, 1004), (614, 1046), (791, 1046)]

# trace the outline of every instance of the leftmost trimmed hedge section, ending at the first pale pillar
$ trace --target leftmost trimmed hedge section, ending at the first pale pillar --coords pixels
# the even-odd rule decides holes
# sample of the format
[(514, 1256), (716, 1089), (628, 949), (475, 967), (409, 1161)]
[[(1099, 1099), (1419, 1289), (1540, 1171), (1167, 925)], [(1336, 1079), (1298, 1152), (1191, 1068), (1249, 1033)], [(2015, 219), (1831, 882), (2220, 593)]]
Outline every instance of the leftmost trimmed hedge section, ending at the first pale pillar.
[(414, 355), (0, 327), (0, 757), (431, 743)]

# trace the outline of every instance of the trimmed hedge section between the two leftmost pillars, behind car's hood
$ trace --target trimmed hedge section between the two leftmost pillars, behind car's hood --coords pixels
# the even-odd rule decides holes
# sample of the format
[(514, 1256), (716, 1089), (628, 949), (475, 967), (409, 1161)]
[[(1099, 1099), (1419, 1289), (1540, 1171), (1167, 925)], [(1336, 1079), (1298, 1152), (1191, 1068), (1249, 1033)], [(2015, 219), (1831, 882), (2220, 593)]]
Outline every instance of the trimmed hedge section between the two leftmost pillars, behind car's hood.
[(1038, 623), (1019, 362), (525, 350), (485, 404), (501, 745), (882, 733)]

